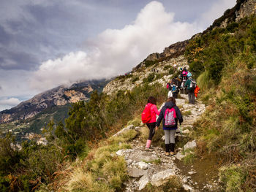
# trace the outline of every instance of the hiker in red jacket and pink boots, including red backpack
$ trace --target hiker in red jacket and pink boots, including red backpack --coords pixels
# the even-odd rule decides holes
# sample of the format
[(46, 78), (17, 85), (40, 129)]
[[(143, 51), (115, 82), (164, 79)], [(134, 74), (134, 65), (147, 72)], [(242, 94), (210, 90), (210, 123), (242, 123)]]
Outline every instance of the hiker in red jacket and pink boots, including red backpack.
[(155, 133), (157, 115), (159, 115), (160, 113), (159, 110), (157, 110), (156, 104), (157, 104), (157, 99), (154, 98), (154, 96), (150, 96), (148, 98), (148, 104), (146, 104), (146, 107), (143, 110), (143, 113), (145, 112), (144, 115), (148, 116), (148, 119), (147, 120), (143, 119), (144, 118), (143, 113), (141, 115), (143, 123), (146, 123), (149, 129), (148, 140), (146, 142), (146, 150), (150, 150), (151, 141)]

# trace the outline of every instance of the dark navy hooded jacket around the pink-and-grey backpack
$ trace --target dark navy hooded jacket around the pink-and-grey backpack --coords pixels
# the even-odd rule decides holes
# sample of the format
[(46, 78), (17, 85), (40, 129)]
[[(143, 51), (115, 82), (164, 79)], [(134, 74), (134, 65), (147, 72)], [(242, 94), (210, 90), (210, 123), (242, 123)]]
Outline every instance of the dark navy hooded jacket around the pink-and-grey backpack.
[[(165, 127), (165, 110), (166, 109), (171, 109), (174, 108), (175, 112), (176, 112), (176, 126), (172, 127), (172, 128), (167, 128)], [(162, 120), (162, 128), (164, 130), (173, 130), (173, 129), (177, 129), (178, 128), (178, 122), (182, 123), (183, 122), (183, 118), (181, 115), (181, 111), (178, 109), (178, 107), (176, 106), (176, 104), (174, 104), (173, 102), (166, 102), (164, 107), (162, 107), (162, 110), (159, 114), (159, 117), (157, 118), (157, 124), (156, 126), (160, 126)]]

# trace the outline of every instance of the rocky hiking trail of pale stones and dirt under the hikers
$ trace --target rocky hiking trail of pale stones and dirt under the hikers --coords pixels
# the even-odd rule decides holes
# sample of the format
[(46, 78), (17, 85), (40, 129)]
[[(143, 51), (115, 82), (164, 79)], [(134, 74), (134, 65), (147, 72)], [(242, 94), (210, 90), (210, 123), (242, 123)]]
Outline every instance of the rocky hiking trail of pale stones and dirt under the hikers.
[[(214, 186), (216, 187), (217, 181), (212, 179), (207, 180), (206, 173), (203, 173), (203, 180), (205, 180), (205, 182), (197, 183), (193, 180), (193, 177), (198, 174), (197, 170), (193, 169), (194, 167), (191, 165), (185, 166), (182, 164), (182, 161), (180, 161), (181, 158), (184, 158), (185, 155), (189, 154), (189, 149), (197, 147), (195, 140), (193, 138), (188, 138), (189, 132), (191, 131), (192, 124), (195, 120), (200, 118), (200, 115), (206, 110), (205, 105), (200, 102), (196, 102), (195, 105), (186, 104), (187, 95), (181, 94), (181, 97), (184, 99), (176, 99), (176, 105), (180, 108), (183, 114), (187, 112), (189, 115), (183, 117), (184, 123), (182, 123), (182, 130), (177, 130), (176, 137), (180, 139), (187, 138), (190, 142), (187, 142), (183, 149), (181, 147), (176, 147), (177, 153), (173, 156), (166, 156), (165, 149), (154, 146), (154, 142), (152, 150), (146, 151), (146, 144), (141, 141), (140, 137), (136, 137), (132, 140), (132, 149), (118, 150), (116, 155), (124, 156), (129, 175), (129, 180), (124, 183), (124, 191), (141, 191), (148, 183), (158, 187), (165, 184), (167, 180), (172, 177), (178, 177), (181, 180), (183, 187), (180, 191), (212, 191)], [(122, 129), (116, 135), (130, 128), (140, 131), (141, 127), (131, 125)], [(164, 138), (162, 138), (162, 142), (164, 143)], [(184, 151), (186, 153), (184, 153)]]

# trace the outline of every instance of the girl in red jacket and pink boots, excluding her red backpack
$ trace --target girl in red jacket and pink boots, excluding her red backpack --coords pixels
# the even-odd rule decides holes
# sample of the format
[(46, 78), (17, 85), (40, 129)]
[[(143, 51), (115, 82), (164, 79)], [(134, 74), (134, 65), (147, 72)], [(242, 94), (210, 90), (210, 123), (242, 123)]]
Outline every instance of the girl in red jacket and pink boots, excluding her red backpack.
[(156, 122), (157, 122), (157, 115), (159, 115), (159, 110), (157, 110), (157, 99), (154, 98), (154, 96), (150, 96), (148, 98), (148, 104), (146, 106), (150, 107), (150, 112), (151, 112), (151, 120), (146, 123), (149, 129), (149, 135), (148, 135), (148, 140), (146, 142), (146, 150), (149, 150), (149, 147), (151, 145), (151, 140), (154, 136), (154, 131), (156, 128)]

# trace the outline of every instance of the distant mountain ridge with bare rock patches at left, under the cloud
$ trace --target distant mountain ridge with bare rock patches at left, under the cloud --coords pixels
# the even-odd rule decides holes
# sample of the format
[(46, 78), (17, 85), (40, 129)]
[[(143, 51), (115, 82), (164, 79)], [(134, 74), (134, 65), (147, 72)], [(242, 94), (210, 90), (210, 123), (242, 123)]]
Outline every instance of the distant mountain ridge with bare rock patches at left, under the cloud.
[(92, 91), (101, 91), (106, 83), (105, 80), (79, 82), (71, 85), (69, 88), (59, 86), (50, 91), (39, 93), (32, 99), (23, 101), (10, 110), (0, 112), (0, 123), (26, 120), (49, 107), (75, 103), (77, 101), (86, 101), (89, 99)]

